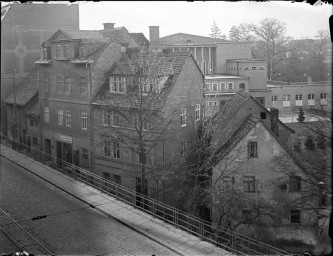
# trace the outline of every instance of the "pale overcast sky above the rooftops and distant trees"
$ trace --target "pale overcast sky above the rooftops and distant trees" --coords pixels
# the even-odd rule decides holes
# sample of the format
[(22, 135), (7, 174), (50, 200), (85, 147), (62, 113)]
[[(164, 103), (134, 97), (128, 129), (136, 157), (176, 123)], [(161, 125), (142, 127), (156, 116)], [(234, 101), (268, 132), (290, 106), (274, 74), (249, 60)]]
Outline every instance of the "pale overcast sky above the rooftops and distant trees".
[(289, 1), (275, 2), (168, 2), (111, 1), (80, 3), (80, 29), (102, 29), (102, 23), (142, 32), (149, 39), (149, 26), (159, 26), (160, 36), (188, 33), (208, 36), (213, 20), (228, 35), (233, 25), (276, 18), (286, 23), (287, 35), (314, 38), (318, 30), (329, 30), (332, 5), (313, 6)]

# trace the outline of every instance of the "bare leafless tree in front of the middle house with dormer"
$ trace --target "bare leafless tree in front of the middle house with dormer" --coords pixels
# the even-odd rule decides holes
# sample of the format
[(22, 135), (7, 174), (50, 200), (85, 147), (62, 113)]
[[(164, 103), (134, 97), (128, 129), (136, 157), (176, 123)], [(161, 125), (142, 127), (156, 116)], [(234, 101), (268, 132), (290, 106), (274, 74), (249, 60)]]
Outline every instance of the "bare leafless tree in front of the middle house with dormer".
[[(126, 88), (122, 80), (116, 80), (111, 86), (120, 93), (106, 89), (99, 95), (98, 105), (104, 120), (95, 124), (96, 145), (104, 145), (104, 154), (115, 154), (114, 157), (120, 149), (119, 143), (133, 152), (141, 166), (141, 193), (148, 195), (147, 178), (158, 180), (163, 176), (163, 170), (151, 168), (157, 160), (155, 150), (168, 139), (168, 129), (179, 119), (176, 108), (168, 113), (163, 111), (173, 69), (158, 54), (124, 56), (117, 68), (122, 69)], [(105, 145), (108, 141), (113, 144)]]

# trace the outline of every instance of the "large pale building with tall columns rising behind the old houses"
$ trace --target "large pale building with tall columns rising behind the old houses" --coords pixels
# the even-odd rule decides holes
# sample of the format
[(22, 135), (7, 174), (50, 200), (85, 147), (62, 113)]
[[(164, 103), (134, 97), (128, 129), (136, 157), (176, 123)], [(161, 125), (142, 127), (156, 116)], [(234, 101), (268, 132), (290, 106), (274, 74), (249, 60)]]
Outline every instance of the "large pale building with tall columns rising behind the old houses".
[(189, 51), (194, 56), (205, 74), (206, 117), (211, 117), (220, 102), (223, 104), (239, 88), (270, 107), (270, 90), (266, 88), (267, 61), (252, 59), (250, 43), (185, 33), (160, 38), (158, 26), (149, 29), (151, 51)]

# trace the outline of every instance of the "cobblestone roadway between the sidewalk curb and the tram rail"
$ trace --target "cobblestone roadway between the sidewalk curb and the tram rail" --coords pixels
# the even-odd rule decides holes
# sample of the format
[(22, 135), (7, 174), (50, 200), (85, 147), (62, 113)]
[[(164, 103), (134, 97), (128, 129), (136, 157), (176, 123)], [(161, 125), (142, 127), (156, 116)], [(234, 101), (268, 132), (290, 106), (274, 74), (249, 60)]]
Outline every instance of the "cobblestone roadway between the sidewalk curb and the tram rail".
[[(175, 255), (117, 220), (89, 208), (1, 157), (0, 206), (28, 226), (53, 253)], [(38, 216), (45, 218), (31, 220)], [(1, 225), (1, 223), (0, 223)], [(0, 237), (0, 252), (12, 250)]]

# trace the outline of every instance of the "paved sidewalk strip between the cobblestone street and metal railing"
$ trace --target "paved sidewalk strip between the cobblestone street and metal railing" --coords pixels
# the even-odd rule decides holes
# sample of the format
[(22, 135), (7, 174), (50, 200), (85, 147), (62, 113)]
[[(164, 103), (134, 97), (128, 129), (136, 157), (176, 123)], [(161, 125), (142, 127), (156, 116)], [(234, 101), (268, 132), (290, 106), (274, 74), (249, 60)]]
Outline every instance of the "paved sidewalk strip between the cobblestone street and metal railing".
[(36, 174), (93, 208), (112, 216), (137, 232), (165, 245), (180, 255), (232, 255), (209, 242), (178, 229), (158, 218), (123, 203), (112, 196), (74, 180), (3, 145), (0, 154)]

